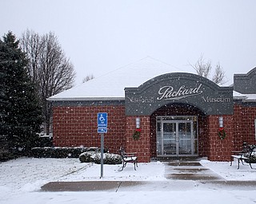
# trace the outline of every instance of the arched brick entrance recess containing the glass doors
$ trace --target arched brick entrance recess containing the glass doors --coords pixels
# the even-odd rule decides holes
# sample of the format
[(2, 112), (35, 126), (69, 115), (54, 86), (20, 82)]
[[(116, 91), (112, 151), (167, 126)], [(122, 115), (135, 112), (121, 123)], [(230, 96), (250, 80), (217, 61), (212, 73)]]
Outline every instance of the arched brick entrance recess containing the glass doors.
[[(190, 104), (168, 104), (150, 116), (152, 157), (200, 155), (198, 147), (206, 114)], [(154, 138), (154, 139), (153, 139)], [(201, 141), (202, 142), (202, 141)]]

